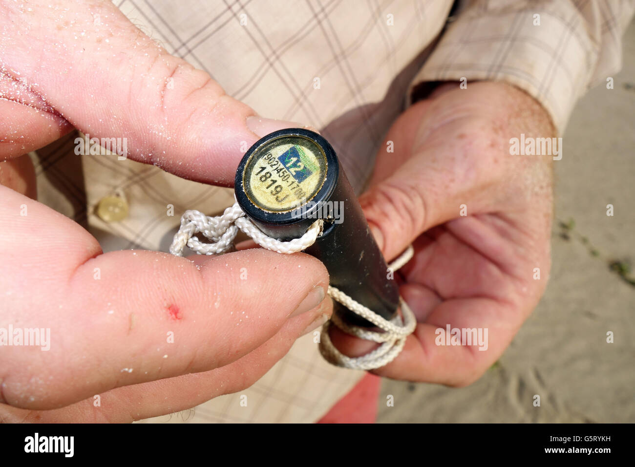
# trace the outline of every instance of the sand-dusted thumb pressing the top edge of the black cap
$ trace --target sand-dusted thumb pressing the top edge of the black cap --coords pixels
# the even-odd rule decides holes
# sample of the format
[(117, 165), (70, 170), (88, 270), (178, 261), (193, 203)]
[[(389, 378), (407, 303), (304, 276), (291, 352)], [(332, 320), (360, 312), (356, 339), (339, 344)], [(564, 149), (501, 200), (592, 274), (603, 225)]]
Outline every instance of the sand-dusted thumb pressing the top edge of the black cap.
[(257, 117), (206, 72), (142, 34), (110, 2), (35, 0), (29, 7), (0, 7), (0, 55), (3, 71), (41, 96), (40, 107), (63, 117), (36, 120), (41, 125), (69, 122), (91, 138), (120, 138), (117, 149), (135, 161), (225, 186), (259, 137), (298, 126)]

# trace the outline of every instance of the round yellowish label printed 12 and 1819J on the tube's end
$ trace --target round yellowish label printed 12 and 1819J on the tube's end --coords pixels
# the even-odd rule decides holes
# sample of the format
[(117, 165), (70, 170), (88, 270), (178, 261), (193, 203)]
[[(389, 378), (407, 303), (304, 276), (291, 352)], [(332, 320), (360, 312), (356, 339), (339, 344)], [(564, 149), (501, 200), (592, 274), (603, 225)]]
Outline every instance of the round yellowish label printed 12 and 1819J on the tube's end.
[(267, 141), (247, 161), (247, 198), (269, 212), (288, 212), (311, 201), (326, 180), (326, 154), (311, 139), (291, 135)]

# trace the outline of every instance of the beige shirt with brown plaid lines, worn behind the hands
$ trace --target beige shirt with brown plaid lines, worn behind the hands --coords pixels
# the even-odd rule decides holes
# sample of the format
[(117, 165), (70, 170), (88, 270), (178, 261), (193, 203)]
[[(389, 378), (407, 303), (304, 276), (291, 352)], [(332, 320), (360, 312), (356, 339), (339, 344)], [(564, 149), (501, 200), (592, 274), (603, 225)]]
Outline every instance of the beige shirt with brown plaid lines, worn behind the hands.
[[(620, 36), (635, 8), (633, 1), (481, 0), (460, 2), (448, 21), (450, 0), (115, 3), (166, 50), (259, 114), (318, 128), (357, 193), (384, 133), (422, 81), (512, 83), (537, 98), (562, 132), (577, 98), (620, 67)], [(38, 196), (86, 226), (104, 251), (167, 252), (185, 210), (217, 215), (234, 202), (231, 189), (155, 166), (77, 156), (76, 137), (32, 154)], [(115, 192), (130, 213), (104, 222), (95, 206)], [(309, 334), (251, 388), (148, 421), (312, 422), (362, 376), (324, 362)]]

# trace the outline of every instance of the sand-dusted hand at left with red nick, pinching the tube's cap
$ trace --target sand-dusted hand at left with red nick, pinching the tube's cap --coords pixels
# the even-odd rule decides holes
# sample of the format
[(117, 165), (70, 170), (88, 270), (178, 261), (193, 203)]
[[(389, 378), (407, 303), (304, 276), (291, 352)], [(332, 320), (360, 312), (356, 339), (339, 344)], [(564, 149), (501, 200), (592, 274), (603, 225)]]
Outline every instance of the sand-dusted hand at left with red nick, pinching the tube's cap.
[(258, 118), (109, 1), (2, 1), (0, 29), (0, 332), (50, 329), (42, 346), (0, 346), (0, 420), (187, 409), (250, 386), (330, 316), (328, 274), (309, 255), (103, 254), (24, 196), (34, 190), (22, 154), (73, 127), (126, 138), (135, 161), (231, 186), (241, 147), (297, 125)]

